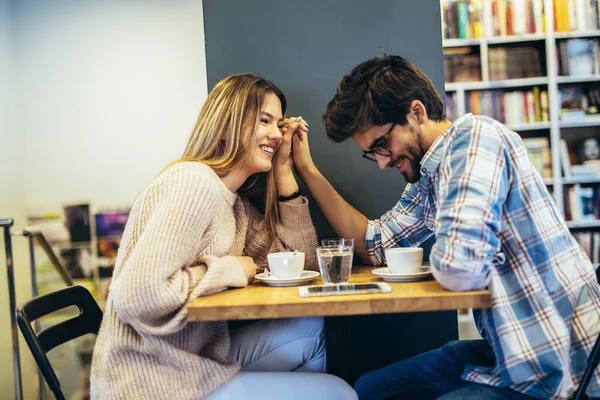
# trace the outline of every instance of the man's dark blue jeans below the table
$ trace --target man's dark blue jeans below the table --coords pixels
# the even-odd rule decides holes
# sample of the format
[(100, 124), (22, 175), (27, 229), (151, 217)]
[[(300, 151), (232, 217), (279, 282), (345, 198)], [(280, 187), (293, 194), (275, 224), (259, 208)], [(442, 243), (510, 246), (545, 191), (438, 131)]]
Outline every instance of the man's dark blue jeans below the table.
[(510, 389), (461, 381), (465, 365), (493, 366), (485, 340), (461, 340), (365, 374), (354, 389), (360, 400), (532, 399)]

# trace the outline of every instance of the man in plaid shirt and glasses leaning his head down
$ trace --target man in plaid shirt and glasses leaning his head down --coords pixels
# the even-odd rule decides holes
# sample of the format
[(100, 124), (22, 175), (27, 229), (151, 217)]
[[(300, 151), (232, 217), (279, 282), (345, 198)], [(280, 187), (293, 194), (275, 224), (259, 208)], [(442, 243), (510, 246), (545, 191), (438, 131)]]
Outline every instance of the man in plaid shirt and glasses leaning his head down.
[[(484, 338), (452, 342), (361, 377), (361, 399), (568, 398), (599, 332), (600, 288), (519, 135), (467, 114), (454, 123), (431, 81), (397, 56), (373, 58), (340, 82), (324, 115), (335, 142), (352, 138), (379, 168), (410, 183), (369, 221), (345, 202), (294, 139), (294, 164), (341, 237), (367, 263), (431, 235), (433, 275), (446, 289), (489, 288), (475, 310)], [(588, 394), (600, 396), (596, 375)]]

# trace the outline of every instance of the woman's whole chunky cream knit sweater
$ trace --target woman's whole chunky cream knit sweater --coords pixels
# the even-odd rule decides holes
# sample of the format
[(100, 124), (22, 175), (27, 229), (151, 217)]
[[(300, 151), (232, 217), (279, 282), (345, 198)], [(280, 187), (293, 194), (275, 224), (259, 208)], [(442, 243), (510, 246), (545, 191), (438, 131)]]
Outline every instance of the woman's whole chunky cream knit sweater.
[(186, 305), (246, 286), (233, 256), (261, 265), (269, 252), (295, 249), (317, 268), (307, 201), (280, 210), (268, 248), (261, 214), (204, 164), (175, 164), (140, 194), (94, 349), (92, 399), (198, 399), (239, 370), (226, 322), (187, 322)]

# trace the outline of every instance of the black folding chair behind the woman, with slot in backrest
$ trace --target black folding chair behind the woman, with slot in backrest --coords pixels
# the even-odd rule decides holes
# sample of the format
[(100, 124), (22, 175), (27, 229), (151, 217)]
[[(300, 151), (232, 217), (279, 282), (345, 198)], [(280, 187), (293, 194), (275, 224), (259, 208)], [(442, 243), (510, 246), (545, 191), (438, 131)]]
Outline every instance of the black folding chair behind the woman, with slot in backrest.
[[(79, 315), (35, 333), (31, 324), (38, 318), (69, 306), (77, 306)], [(88, 333), (98, 333), (102, 310), (83, 286), (69, 286), (29, 300), (17, 307), (17, 322), (44, 379), (58, 400), (65, 397), (46, 353)]]

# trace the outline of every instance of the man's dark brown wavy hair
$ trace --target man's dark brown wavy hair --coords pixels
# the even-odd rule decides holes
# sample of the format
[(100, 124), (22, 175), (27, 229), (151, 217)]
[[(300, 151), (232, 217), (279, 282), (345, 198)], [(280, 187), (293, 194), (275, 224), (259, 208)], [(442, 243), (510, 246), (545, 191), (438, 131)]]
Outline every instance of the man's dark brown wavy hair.
[(374, 57), (339, 83), (323, 115), (327, 136), (339, 143), (373, 125), (405, 125), (413, 100), (423, 103), (429, 119), (446, 118), (444, 102), (423, 71), (400, 56)]

